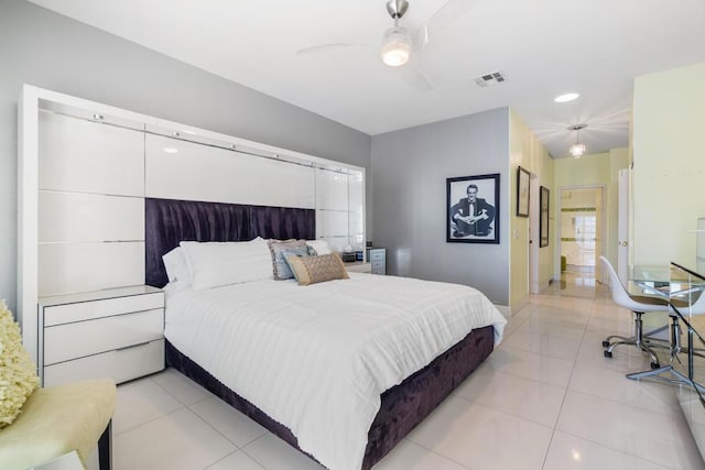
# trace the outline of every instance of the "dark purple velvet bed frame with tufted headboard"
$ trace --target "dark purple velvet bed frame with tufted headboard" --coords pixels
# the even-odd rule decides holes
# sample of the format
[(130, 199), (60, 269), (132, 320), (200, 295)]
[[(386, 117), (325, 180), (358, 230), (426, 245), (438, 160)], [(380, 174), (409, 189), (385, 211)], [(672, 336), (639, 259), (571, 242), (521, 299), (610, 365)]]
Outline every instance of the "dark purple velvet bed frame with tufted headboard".
[[(246, 241), (258, 236), (312, 240), (315, 238), (315, 210), (148, 198), (147, 284), (156, 287), (166, 284), (162, 255), (182, 240)], [(492, 326), (475, 329), (429, 365), (382, 393), (380, 411), (368, 433), (362, 470), (369, 470), (379, 462), (438, 406), (492, 352), (494, 343)], [(229, 390), (169, 341), (166, 365), (181, 371), (301, 450), (296, 437), (288, 427)], [(314, 458), (311, 455), (308, 457)]]

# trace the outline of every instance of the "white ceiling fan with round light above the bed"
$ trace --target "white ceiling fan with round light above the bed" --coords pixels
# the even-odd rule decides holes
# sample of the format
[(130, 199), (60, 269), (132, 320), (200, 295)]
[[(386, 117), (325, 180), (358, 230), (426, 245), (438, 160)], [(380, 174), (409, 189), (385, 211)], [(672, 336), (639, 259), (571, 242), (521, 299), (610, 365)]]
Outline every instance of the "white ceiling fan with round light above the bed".
[[(391, 67), (401, 78), (417, 91), (429, 91), (432, 86), (426, 77), (416, 68), (412, 57), (424, 48), (431, 37), (440, 30), (451, 24), (459, 15), (465, 13), (477, 0), (447, 0), (443, 7), (436, 10), (426, 22), (413, 34), (399, 25), (406, 10), (408, 0), (389, 0), (387, 12), (394, 21), (394, 25), (384, 32), (380, 48), (380, 56), (384, 65)], [(345, 50), (365, 48), (373, 52), (376, 47), (369, 44), (335, 43), (319, 44), (296, 51), (296, 55), (305, 56), (322, 53), (333, 53)]]

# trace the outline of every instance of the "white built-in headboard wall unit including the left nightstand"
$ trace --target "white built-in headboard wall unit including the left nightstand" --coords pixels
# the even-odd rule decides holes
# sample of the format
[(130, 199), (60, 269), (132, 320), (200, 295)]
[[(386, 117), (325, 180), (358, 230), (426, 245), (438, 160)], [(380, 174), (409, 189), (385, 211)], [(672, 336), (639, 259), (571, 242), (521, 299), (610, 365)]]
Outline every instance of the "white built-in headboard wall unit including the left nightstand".
[[(18, 317), (48, 383), (163, 367), (163, 294), (142, 285), (145, 197), (315, 209), (317, 238), (365, 245), (361, 167), (31, 86), (19, 111)], [(119, 307), (80, 317), (105, 305)], [(47, 324), (58, 311), (82, 319)]]

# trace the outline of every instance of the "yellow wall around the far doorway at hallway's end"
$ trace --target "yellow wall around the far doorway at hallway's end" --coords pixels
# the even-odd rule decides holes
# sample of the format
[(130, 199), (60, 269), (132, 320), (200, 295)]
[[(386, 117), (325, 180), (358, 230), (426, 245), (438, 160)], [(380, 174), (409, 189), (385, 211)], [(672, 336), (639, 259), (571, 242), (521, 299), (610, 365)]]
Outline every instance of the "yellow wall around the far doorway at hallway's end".
[(605, 187), (605, 248), (612, 263), (617, 261), (617, 218), (619, 170), (629, 166), (629, 149), (612, 149), (606, 153), (584, 155), (582, 159), (555, 161), (556, 212), (561, 188), (570, 186)]

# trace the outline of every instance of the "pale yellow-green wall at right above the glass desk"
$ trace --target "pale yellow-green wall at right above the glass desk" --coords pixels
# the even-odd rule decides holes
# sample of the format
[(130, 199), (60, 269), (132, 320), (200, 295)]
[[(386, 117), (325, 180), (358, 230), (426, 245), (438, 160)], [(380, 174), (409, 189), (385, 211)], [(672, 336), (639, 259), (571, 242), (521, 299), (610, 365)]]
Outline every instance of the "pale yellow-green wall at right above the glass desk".
[(705, 217), (705, 63), (634, 79), (633, 264), (694, 265)]

